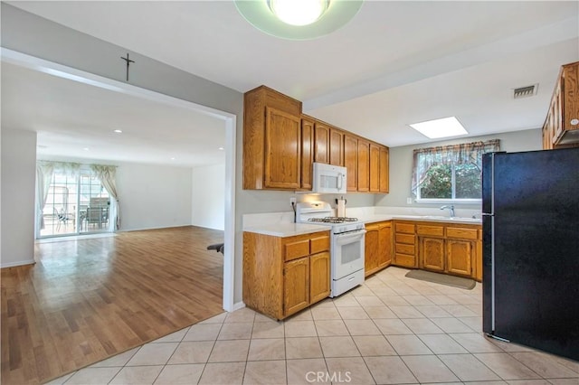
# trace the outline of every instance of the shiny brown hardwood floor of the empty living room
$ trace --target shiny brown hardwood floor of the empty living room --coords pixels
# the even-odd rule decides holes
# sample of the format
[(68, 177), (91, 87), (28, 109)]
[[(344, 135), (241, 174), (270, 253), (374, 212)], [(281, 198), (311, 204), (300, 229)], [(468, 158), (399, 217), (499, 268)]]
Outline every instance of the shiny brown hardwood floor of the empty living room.
[(223, 231), (37, 243), (2, 269), (2, 383), (41, 383), (223, 312)]

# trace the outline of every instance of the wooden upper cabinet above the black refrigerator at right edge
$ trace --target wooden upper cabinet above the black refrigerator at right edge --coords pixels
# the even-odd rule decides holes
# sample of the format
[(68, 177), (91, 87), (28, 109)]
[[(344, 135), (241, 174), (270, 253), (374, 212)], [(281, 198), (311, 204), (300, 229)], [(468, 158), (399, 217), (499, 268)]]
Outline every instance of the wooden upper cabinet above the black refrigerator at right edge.
[(543, 125), (543, 149), (579, 146), (579, 61), (559, 71)]

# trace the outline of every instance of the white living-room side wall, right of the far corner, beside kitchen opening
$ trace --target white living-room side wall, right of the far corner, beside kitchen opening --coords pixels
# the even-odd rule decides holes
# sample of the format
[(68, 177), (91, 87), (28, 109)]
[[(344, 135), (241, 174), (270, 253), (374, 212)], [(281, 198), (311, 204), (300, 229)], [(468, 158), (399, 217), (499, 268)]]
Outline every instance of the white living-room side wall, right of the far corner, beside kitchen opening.
[(191, 224), (225, 228), (225, 164), (194, 167), (192, 172)]

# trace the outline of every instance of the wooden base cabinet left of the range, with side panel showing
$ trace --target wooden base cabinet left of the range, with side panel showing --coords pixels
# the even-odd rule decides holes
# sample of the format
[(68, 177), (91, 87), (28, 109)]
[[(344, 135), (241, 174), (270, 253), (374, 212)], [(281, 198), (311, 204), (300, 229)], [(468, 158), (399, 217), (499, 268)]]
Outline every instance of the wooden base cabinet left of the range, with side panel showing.
[(290, 237), (243, 232), (245, 305), (280, 320), (329, 294), (329, 231)]

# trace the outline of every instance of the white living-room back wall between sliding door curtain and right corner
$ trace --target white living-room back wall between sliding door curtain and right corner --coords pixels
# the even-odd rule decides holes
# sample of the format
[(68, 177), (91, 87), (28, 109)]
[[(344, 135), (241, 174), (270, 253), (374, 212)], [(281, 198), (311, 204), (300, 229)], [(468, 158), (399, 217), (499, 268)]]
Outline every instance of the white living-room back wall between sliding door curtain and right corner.
[(120, 230), (190, 225), (191, 185), (191, 168), (119, 164)]

